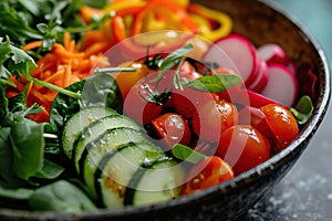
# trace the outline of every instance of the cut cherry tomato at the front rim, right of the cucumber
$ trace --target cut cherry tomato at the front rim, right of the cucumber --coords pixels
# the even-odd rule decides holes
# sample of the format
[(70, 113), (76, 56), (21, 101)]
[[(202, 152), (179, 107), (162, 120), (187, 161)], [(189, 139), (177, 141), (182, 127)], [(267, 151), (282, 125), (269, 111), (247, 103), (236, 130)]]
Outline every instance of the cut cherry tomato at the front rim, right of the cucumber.
[(231, 167), (220, 157), (211, 156), (200, 160), (189, 170), (183, 193), (190, 194), (232, 178)]

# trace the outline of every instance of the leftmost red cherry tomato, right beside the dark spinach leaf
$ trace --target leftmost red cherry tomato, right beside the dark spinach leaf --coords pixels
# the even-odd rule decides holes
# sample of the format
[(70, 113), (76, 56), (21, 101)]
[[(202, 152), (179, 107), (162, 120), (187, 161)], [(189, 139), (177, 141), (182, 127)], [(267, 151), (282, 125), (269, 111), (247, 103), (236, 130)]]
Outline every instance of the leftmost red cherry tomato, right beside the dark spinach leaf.
[(151, 96), (146, 91), (153, 90), (151, 87), (148, 84), (143, 85), (138, 82), (131, 88), (124, 99), (124, 115), (133, 118), (141, 125), (149, 124), (151, 120), (159, 116), (163, 110), (163, 106), (145, 99)]

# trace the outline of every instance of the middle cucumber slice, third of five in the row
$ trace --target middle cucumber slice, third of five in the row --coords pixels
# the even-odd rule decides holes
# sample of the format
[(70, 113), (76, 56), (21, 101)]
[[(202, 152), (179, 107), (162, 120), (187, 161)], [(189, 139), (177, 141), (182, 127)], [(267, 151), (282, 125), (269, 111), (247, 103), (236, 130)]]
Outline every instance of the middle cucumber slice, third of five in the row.
[(123, 147), (124, 145), (143, 143), (145, 140), (146, 138), (141, 131), (132, 128), (118, 127), (107, 129), (97, 138), (97, 140), (89, 143), (85, 146), (79, 161), (80, 176), (82, 180), (85, 181), (91, 190), (94, 190), (93, 176), (101, 162), (101, 159), (105, 155)]

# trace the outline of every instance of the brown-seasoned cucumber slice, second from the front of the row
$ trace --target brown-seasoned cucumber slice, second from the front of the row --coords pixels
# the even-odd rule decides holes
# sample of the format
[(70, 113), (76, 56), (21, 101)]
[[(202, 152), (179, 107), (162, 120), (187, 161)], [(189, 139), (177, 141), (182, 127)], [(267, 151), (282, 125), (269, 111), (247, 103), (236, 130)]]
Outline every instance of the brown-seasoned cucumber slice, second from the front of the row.
[(131, 178), (142, 164), (165, 156), (151, 144), (128, 144), (106, 155), (95, 172), (95, 191), (102, 204), (110, 209), (124, 207), (124, 196)]

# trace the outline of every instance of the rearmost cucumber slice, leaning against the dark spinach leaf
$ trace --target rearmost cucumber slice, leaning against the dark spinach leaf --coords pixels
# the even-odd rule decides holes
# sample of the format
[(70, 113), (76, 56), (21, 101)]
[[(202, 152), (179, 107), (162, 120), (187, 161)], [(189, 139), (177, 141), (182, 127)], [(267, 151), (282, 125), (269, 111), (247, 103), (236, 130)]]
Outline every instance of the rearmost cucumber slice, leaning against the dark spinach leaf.
[(62, 148), (64, 154), (71, 158), (73, 144), (79, 137), (80, 133), (92, 122), (110, 115), (117, 115), (117, 113), (105, 107), (89, 107), (81, 109), (70, 117), (64, 125), (62, 134)]

